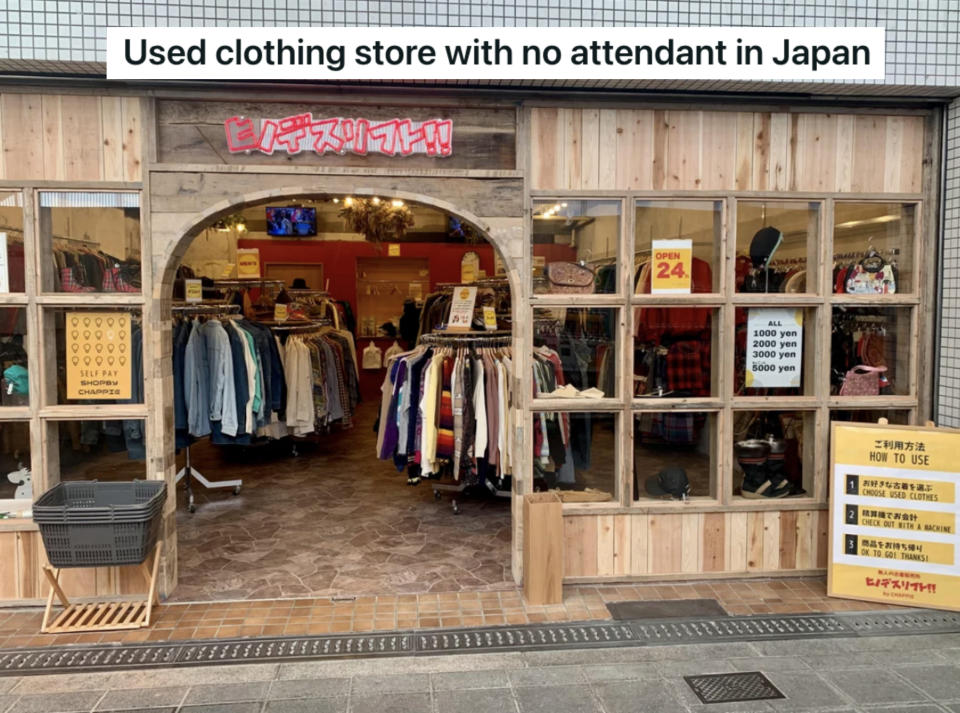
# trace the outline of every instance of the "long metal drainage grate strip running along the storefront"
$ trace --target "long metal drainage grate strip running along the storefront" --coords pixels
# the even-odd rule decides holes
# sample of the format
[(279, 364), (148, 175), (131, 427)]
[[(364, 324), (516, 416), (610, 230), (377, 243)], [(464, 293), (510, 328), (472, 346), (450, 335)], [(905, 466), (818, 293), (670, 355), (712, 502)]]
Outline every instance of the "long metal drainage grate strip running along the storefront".
[(373, 656), (665, 646), (960, 632), (960, 613), (926, 610), (612, 621), (0, 650), (0, 676)]

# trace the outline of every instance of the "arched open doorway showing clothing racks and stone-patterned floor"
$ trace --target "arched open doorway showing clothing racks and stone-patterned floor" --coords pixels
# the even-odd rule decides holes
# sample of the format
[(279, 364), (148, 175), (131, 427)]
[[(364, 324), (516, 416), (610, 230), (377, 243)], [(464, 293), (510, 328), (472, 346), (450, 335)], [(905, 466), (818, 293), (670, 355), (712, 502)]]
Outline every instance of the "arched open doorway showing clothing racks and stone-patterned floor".
[[(501, 359), (512, 347), (511, 289), (487, 237), (447, 210), (387, 195), (275, 197), (238, 206), (194, 232), (173, 285), (175, 411), (196, 410), (178, 370), (186, 360), (184, 340), (194, 330), (202, 334), (199, 327), (210, 321), (240, 337), (233, 340), (234, 357), (238, 342), (244, 347), (242, 339), (257, 336), (251, 332), (272, 339), (284, 388), (294, 396), (258, 418), (250, 403), (256, 378), (247, 368), (253, 389), (244, 392), (249, 421), (239, 434), (247, 438), (233, 435), (232, 420), (224, 431), (223, 398), (221, 410), (211, 411), (221, 416), (219, 424), (198, 424), (196, 414), (187, 413), (180, 428), (178, 417), (178, 468), (189, 445), (191, 465), (206, 479), (243, 485), (233, 495), (194, 481), (191, 513), (185, 484), (178, 484), (179, 584), (172, 599), (513, 588), (511, 439), (488, 433), (479, 457), (465, 456), (465, 442), (476, 446), (477, 439), (462, 437), (462, 413), (458, 409), (453, 422), (444, 389), (454, 387), (450, 372), (468, 350), (471, 357)], [(237, 274), (238, 265), (253, 263), (256, 275)], [(190, 280), (200, 280), (199, 303), (186, 302), (196, 294)], [(464, 283), (475, 285), (478, 295), (474, 323), (458, 336), (443, 330), (453, 287)], [(497, 329), (489, 334), (477, 334), (484, 330), (482, 306), (496, 314)], [(204, 329), (219, 333), (220, 327)], [(299, 357), (291, 341), (308, 344), (308, 361), (297, 363), (308, 364), (309, 377), (292, 376), (296, 367), (288, 362)], [(247, 356), (255, 352), (249, 342), (246, 348)], [(431, 362), (441, 351), (437, 412), (424, 421), (422, 387), (407, 373), (420, 362), (409, 355)], [(230, 393), (235, 408), (228, 411), (236, 414), (241, 361), (230, 372), (234, 388), (217, 391)], [(488, 378), (503, 373), (502, 365), (490, 368)], [(307, 382), (309, 392), (296, 391)], [(404, 390), (417, 394), (404, 401)], [(290, 403), (299, 416), (288, 413)], [(409, 404), (408, 420), (401, 426), (403, 404)], [(499, 411), (499, 404), (489, 405)], [(425, 424), (439, 434), (429, 466), (418, 450)], [(397, 443), (384, 446), (385, 438)]]

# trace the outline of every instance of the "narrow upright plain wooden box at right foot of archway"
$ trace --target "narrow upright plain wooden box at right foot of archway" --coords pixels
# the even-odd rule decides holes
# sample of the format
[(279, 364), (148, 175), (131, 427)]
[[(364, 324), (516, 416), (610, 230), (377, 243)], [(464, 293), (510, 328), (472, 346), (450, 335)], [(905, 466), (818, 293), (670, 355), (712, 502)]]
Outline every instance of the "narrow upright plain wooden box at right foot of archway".
[(556, 493), (523, 498), (523, 599), (563, 603), (563, 503)]

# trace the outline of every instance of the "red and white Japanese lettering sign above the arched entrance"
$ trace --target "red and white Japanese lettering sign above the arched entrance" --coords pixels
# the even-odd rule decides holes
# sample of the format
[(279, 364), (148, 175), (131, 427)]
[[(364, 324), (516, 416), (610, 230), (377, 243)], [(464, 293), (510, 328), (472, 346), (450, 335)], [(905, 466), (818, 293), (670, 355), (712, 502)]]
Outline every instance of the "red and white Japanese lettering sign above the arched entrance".
[(230, 153), (259, 151), (298, 154), (353, 153), (366, 156), (449, 156), (453, 153), (450, 119), (314, 119), (310, 112), (283, 119), (231, 116), (223, 122)]

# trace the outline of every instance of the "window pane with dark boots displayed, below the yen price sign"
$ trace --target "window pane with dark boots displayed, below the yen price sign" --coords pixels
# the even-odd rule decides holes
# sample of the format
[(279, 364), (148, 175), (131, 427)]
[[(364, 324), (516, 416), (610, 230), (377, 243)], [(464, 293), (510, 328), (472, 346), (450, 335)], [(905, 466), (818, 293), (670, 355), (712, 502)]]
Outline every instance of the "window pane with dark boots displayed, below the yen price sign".
[(733, 494), (812, 495), (815, 424), (812, 411), (734, 411)]

